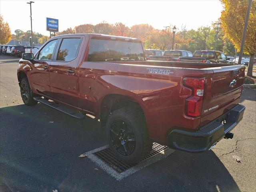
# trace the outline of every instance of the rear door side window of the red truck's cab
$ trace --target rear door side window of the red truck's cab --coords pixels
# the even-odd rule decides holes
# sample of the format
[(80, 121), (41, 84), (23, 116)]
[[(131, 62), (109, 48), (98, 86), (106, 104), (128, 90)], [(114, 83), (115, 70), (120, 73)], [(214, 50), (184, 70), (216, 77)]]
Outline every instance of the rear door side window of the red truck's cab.
[(76, 58), (80, 47), (81, 38), (66, 38), (63, 39), (58, 51), (58, 61), (72, 61)]

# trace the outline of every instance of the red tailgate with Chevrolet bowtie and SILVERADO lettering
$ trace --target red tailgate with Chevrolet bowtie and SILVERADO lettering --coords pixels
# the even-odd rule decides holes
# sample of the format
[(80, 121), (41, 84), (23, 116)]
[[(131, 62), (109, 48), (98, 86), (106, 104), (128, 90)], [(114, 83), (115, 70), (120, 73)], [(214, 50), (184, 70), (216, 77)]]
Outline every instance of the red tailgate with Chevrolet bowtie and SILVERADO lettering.
[(202, 105), (201, 126), (221, 116), (240, 102), (245, 66), (233, 65), (212, 69), (207, 77), (206, 94)]

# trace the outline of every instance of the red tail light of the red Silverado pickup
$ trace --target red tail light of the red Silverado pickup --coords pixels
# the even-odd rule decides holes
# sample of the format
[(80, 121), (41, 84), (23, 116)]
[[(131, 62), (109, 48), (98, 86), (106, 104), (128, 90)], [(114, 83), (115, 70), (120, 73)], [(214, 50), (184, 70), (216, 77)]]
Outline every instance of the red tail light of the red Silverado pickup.
[(192, 96), (186, 99), (186, 115), (192, 117), (201, 115), (204, 97), (204, 82), (205, 78), (186, 77), (183, 79), (183, 85), (192, 89)]

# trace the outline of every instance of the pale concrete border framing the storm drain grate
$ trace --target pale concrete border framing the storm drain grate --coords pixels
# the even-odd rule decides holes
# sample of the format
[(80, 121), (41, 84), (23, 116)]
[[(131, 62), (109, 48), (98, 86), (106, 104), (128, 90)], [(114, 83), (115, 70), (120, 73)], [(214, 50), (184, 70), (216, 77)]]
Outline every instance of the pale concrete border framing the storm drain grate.
[(145, 168), (146, 166), (149, 166), (152, 163), (158, 162), (159, 160), (166, 158), (167, 156), (169, 156), (170, 154), (172, 154), (175, 151), (175, 150), (168, 148), (168, 149), (156, 154), (155, 156), (152, 156), (152, 157), (136, 164), (135, 166), (132, 166), (131, 168), (125, 170), (124, 172), (118, 173), (111, 166), (109, 166), (104, 161), (102, 161), (100, 158), (98, 158), (96, 155), (94, 155), (94, 153), (104, 150), (106, 148), (108, 148), (108, 145), (85, 152), (84, 154), (86, 154), (87, 158), (89, 158), (92, 162), (97, 164), (102, 170), (104, 170), (106, 173), (108, 173), (109, 175), (111, 175), (118, 181), (122, 180), (123, 178), (126, 178), (130, 174), (134, 174), (135, 172)]

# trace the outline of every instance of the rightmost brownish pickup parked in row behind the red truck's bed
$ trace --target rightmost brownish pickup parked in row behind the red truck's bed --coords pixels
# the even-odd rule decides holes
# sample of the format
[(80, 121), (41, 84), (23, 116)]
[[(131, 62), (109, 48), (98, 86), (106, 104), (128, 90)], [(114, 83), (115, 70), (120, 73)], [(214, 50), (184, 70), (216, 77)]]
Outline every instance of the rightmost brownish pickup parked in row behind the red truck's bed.
[(195, 51), (192, 57), (180, 57), (183, 62), (202, 62), (202, 63), (226, 63), (232, 64), (230, 58), (220, 51), (202, 50)]

